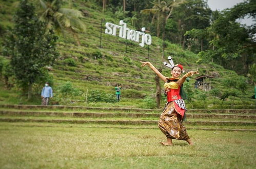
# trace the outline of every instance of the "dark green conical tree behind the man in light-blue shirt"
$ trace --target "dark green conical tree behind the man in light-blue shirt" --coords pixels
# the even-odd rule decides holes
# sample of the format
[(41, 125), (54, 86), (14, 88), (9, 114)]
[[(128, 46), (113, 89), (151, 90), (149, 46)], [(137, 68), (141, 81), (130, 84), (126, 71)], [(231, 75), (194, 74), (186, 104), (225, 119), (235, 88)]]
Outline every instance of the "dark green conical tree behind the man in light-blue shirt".
[(33, 83), (43, 76), (45, 66), (57, 58), (57, 37), (46, 30), (34, 13), (34, 7), (23, 0), (14, 15), (14, 28), (5, 39), (4, 54), (11, 56), (11, 67), (19, 85), (28, 87), (31, 98)]

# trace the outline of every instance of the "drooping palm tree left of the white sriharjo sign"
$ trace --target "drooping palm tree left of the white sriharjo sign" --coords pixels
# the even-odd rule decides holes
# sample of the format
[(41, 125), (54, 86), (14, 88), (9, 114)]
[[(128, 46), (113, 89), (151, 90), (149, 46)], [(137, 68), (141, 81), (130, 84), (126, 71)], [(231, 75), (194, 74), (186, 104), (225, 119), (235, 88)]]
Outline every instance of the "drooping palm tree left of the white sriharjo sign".
[(62, 8), (62, 0), (39, 0), (41, 9), (40, 19), (47, 24), (48, 29), (54, 29), (57, 33), (65, 31), (71, 33), (80, 46), (77, 33), (85, 32), (85, 24), (82, 22), (83, 14), (81, 11), (69, 8)]

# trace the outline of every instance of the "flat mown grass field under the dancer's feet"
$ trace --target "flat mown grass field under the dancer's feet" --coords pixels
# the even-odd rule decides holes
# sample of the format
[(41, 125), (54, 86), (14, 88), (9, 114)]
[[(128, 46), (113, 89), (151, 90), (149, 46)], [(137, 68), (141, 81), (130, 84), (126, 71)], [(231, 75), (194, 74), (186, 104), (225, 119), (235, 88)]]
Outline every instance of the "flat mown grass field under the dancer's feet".
[[(99, 128), (98, 126), (102, 126)], [(0, 123), (1, 168), (255, 168), (256, 133), (189, 130), (162, 146), (158, 129)], [(134, 128), (136, 126), (133, 126)]]

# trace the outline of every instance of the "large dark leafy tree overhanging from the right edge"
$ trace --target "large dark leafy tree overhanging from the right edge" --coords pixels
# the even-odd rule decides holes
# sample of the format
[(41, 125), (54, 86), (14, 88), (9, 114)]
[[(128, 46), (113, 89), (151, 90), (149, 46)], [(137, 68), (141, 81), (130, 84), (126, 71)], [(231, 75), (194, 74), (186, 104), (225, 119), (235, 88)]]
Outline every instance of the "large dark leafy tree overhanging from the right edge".
[(206, 61), (213, 59), (226, 69), (246, 75), (256, 61), (256, 24), (246, 27), (238, 23), (237, 19), (246, 15), (255, 18), (255, 7), (256, 1), (247, 0), (222, 11), (207, 28), (208, 36), (211, 37), (210, 44), (214, 48), (200, 52), (199, 55)]

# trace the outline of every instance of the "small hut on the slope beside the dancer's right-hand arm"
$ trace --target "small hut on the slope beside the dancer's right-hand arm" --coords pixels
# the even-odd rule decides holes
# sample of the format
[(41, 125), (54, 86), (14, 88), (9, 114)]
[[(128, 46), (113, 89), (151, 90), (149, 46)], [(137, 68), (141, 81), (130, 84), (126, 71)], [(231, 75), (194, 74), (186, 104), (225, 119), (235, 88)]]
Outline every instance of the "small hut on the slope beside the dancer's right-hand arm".
[(211, 90), (210, 79), (211, 76), (201, 75), (195, 78), (194, 87), (195, 89), (201, 89), (204, 91)]

